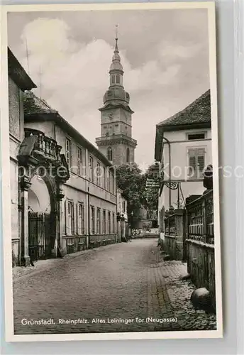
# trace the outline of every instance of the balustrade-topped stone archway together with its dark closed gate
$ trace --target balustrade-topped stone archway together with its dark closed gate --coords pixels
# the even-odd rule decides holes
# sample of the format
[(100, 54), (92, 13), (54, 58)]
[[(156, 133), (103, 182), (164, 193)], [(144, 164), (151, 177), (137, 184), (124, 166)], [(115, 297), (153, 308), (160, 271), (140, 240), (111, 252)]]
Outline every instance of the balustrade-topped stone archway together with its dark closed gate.
[[(62, 147), (45, 136), (41, 131), (25, 129), (25, 138), (18, 153), (19, 187), (21, 195), (21, 264), (28, 266), (30, 261), (48, 258), (60, 250), (60, 203), (62, 183), (70, 178)], [(50, 192), (51, 213), (33, 214), (28, 211), (28, 190), (31, 179), (42, 171)], [(21, 172), (21, 175), (20, 175)], [(55, 245), (57, 248), (55, 248)]]

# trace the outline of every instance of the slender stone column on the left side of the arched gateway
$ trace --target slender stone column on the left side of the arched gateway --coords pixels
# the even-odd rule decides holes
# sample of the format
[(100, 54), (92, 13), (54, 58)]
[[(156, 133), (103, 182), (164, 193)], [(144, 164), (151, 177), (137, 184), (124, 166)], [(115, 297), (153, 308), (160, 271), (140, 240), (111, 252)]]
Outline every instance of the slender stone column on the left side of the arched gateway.
[(21, 264), (30, 266), (29, 256), (29, 221), (28, 221), (28, 190), (31, 186), (29, 177), (21, 179)]

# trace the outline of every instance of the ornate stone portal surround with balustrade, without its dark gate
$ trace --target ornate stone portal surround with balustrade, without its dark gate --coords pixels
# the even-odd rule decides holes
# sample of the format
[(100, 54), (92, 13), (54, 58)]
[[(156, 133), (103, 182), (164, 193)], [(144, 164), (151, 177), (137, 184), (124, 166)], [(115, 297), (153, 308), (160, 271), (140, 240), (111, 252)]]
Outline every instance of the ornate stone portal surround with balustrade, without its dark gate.
[[(62, 236), (60, 234), (61, 201), (64, 197), (62, 194), (62, 184), (70, 178), (70, 173), (65, 155), (60, 154), (61, 148), (61, 146), (57, 145), (56, 141), (46, 137), (43, 132), (34, 129), (25, 129), (25, 138), (18, 152), (21, 265), (23, 266), (29, 266), (30, 263), (33, 263), (30, 255), (32, 235), (29, 234), (30, 206), (28, 204), (28, 195), (31, 181), (35, 176), (38, 176), (40, 180), (45, 182), (50, 197), (50, 229), (46, 230), (46, 234), (49, 234), (51, 253), (50, 255), (46, 255), (46, 251), (43, 250), (42, 256), (62, 256)], [(38, 213), (36, 216), (38, 217)], [(38, 227), (41, 228), (40, 224), (37, 223), (36, 228)], [(36, 247), (38, 248), (38, 245)]]

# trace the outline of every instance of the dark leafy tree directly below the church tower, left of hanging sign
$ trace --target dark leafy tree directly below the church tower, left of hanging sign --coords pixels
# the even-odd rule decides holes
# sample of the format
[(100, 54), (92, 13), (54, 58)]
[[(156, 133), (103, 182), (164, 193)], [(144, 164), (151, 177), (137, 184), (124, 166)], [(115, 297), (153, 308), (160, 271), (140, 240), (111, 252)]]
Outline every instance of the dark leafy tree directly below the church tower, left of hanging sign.
[[(122, 195), (127, 200), (128, 221), (131, 225), (138, 219), (140, 207), (143, 202), (145, 179), (136, 163), (123, 164), (116, 168), (118, 188), (123, 190)], [(133, 212), (133, 214), (132, 214)]]

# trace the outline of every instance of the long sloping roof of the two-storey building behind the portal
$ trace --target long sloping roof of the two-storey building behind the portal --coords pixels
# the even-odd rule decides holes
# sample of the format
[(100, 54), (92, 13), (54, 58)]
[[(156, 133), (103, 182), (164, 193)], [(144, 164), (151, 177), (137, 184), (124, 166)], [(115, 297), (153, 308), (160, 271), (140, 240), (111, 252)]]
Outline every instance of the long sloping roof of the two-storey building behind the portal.
[(69, 124), (65, 119), (60, 116), (59, 112), (52, 109), (50, 105), (43, 99), (39, 99), (33, 92), (24, 93), (24, 113), (25, 122), (40, 122), (40, 121), (54, 121), (63, 131), (66, 131), (69, 136), (74, 138), (81, 146), (87, 148), (105, 165), (111, 166), (111, 162), (102, 154), (91, 142), (82, 136), (77, 129)]

